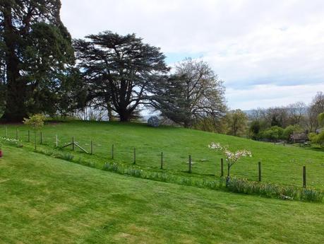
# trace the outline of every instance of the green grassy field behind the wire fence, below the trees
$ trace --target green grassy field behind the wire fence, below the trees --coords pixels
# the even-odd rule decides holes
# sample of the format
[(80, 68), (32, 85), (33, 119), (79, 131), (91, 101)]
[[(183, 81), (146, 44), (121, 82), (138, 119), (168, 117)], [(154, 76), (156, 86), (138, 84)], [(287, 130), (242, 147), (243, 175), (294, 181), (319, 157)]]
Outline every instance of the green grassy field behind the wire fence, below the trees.
[[(20, 138), (27, 138), (27, 128), (9, 126), (8, 133), (15, 137), (16, 127)], [(4, 134), (4, 130), (2, 133)], [(257, 180), (257, 162), (263, 162), (263, 180), (287, 185), (301, 186), (302, 166), (307, 166), (308, 186), (324, 189), (324, 153), (295, 146), (273, 145), (249, 139), (212, 134), (176, 127), (150, 128), (145, 124), (120, 124), (107, 122), (66, 122), (49, 124), (44, 130), (44, 142), (53, 148), (55, 134), (59, 135), (60, 144), (76, 141), (86, 149), (90, 140), (95, 143), (95, 155), (76, 153), (77, 157), (88, 158), (102, 165), (110, 160), (112, 144), (115, 145), (115, 161), (131, 165), (133, 147), (136, 146), (137, 165), (141, 168), (159, 170), (160, 152), (164, 152), (165, 168), (172, 173), (183, 174), (188, 170), (188, 154), (193, 157), (193, 175), (209, 177), (219, 175), (221, 153), (208, 149), (211, 141), (228, 145), (230, 149), (248, 149), (253, 158), (246, 158), (233, 168), (233, 175), (240, 178)], [(32, 144), (29, 145), (32, 148)], [(64, 151), (68, 151), (65, 149)]]

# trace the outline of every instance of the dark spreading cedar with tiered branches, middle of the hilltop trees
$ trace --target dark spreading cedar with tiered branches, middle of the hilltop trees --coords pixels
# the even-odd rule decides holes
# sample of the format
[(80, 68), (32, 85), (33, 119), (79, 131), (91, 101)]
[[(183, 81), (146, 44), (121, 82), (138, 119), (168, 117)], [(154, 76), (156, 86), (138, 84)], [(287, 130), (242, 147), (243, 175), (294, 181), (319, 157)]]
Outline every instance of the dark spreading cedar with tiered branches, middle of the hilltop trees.
[(164, 54), (136, 35), (104, 32), (76, 40), (76, 55), (88, 86), (88, 100), (112, 109), (127, 122), (145, 103), (148, 87), (168, 71)]

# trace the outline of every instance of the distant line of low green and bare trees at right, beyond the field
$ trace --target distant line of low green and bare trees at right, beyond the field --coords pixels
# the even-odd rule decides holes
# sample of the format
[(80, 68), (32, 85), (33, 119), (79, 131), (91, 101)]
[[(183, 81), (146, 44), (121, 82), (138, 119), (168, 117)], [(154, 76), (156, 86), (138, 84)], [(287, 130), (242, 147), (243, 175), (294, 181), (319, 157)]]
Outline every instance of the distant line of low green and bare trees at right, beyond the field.
[[(230, 110), (218, 121), (217, 132), (266, 141), (289, 141), (293, 132), (303, 132), (310, 139), (319, 139), (321, 136), (324, 138), (323, 116), (324, 93), (318, 92), (308, 105), (297, 102), (287, 106), (257, 108), (246, 112)], [(200, 123), (200, 129), (209, 130), (206, 124), (208, 122)], [(319, 134), (319, 137), (316, 137), (316, 134)]]

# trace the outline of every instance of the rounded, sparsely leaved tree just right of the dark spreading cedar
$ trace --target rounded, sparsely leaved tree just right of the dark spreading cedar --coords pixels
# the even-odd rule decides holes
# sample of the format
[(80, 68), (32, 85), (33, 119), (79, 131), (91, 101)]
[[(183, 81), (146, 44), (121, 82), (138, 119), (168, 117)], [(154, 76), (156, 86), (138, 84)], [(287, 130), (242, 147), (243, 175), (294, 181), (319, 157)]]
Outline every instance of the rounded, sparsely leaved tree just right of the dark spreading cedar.
[(222, 116), (224, 86), (206, 62), (185, 59), (172, 76), (152, 86), (152, 106), (170, 120), (191, 127), (199, 118)]

